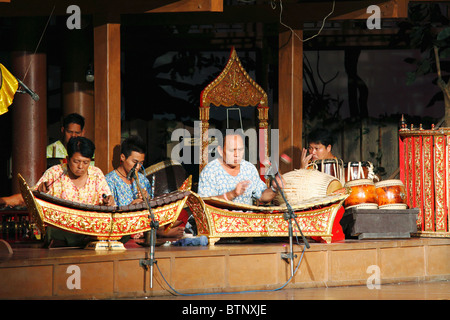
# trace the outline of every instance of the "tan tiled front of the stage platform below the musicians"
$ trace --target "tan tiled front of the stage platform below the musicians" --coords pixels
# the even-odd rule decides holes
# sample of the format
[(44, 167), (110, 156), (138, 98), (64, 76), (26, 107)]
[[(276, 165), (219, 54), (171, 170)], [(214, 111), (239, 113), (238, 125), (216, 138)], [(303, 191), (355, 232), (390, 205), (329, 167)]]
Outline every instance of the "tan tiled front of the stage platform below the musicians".
[[(288, 239), (205, 247), (159, 246), (155, 258), (170, 286), (181, 293), (276, 289), (290, 278), (282, 259)], [(410, 238), (311, 242), (285, 287), (319, 288), (450, 280), (450, 239)], [(117, 299), (167, 297), (158, 268), (140, 266), (148, 249), (133, 242), (126, 251), (42, 249), (13, 246), (0, 252), (0, 299)], [(297, 255), (303, 246), (294, 244)]]

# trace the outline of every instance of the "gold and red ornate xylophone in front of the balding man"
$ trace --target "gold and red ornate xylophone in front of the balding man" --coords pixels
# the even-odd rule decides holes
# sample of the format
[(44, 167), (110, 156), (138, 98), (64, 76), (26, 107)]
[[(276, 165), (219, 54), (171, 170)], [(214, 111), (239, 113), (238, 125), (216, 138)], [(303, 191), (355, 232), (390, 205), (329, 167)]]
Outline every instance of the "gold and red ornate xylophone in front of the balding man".
[[(327, 196), (291, 204), (303, 234), (330, 243), (333, 224), (339, 223), (336, 215), (350, 192), (350, 188), (341, 188)], [(249, 206), (215, 197), (200, 198), (193, 192), (186, 204), (195, 218), (198, 235), (207, 236), (210, 245), (220, 238), (288, 236), (288, 222), (283, 218), (285, 205)]]

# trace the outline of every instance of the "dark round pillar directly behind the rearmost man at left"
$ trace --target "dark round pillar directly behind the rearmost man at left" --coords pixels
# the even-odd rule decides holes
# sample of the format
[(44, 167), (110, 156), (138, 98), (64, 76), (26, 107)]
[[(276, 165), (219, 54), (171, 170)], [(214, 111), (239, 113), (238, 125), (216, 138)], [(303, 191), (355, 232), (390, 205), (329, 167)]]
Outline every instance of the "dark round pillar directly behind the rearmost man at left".
[(85, 137), (95, 141), (94, 83), (86, 81), (86, 71), (94, 62), (92, 28), (67, 29), (64, 34), (63, 116), (81, 114)]

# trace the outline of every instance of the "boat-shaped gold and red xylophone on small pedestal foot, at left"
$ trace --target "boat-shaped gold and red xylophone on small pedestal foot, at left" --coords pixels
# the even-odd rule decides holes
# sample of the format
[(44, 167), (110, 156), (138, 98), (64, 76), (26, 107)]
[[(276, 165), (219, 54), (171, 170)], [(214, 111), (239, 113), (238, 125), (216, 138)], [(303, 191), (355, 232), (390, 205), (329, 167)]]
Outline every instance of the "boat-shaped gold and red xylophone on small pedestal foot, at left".
[[(44, 233), (47, 225), (95, 237), (99, 242), (89, 245), (95, 249), (124, 249), (121, 237), (150, 230), (149, 211), (144, 203), (128, 206), (94, 206), (62, 200), (32, 191), (19, 174), (19, 185), (32, 219)], [(160, 226), (177, 220), (190, 195), (190, 180), (180, 190), (161, 195), (150, 201), (155, 220)]]

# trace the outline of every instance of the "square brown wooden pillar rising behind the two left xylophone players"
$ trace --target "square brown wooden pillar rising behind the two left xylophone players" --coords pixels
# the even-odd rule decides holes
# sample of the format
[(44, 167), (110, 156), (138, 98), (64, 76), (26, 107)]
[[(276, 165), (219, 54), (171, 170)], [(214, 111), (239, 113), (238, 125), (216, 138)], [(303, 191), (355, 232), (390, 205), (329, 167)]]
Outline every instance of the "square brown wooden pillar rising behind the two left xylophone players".
[(95, 165), (112, 171), (120, 145), (120, 23), (94, 17)]

